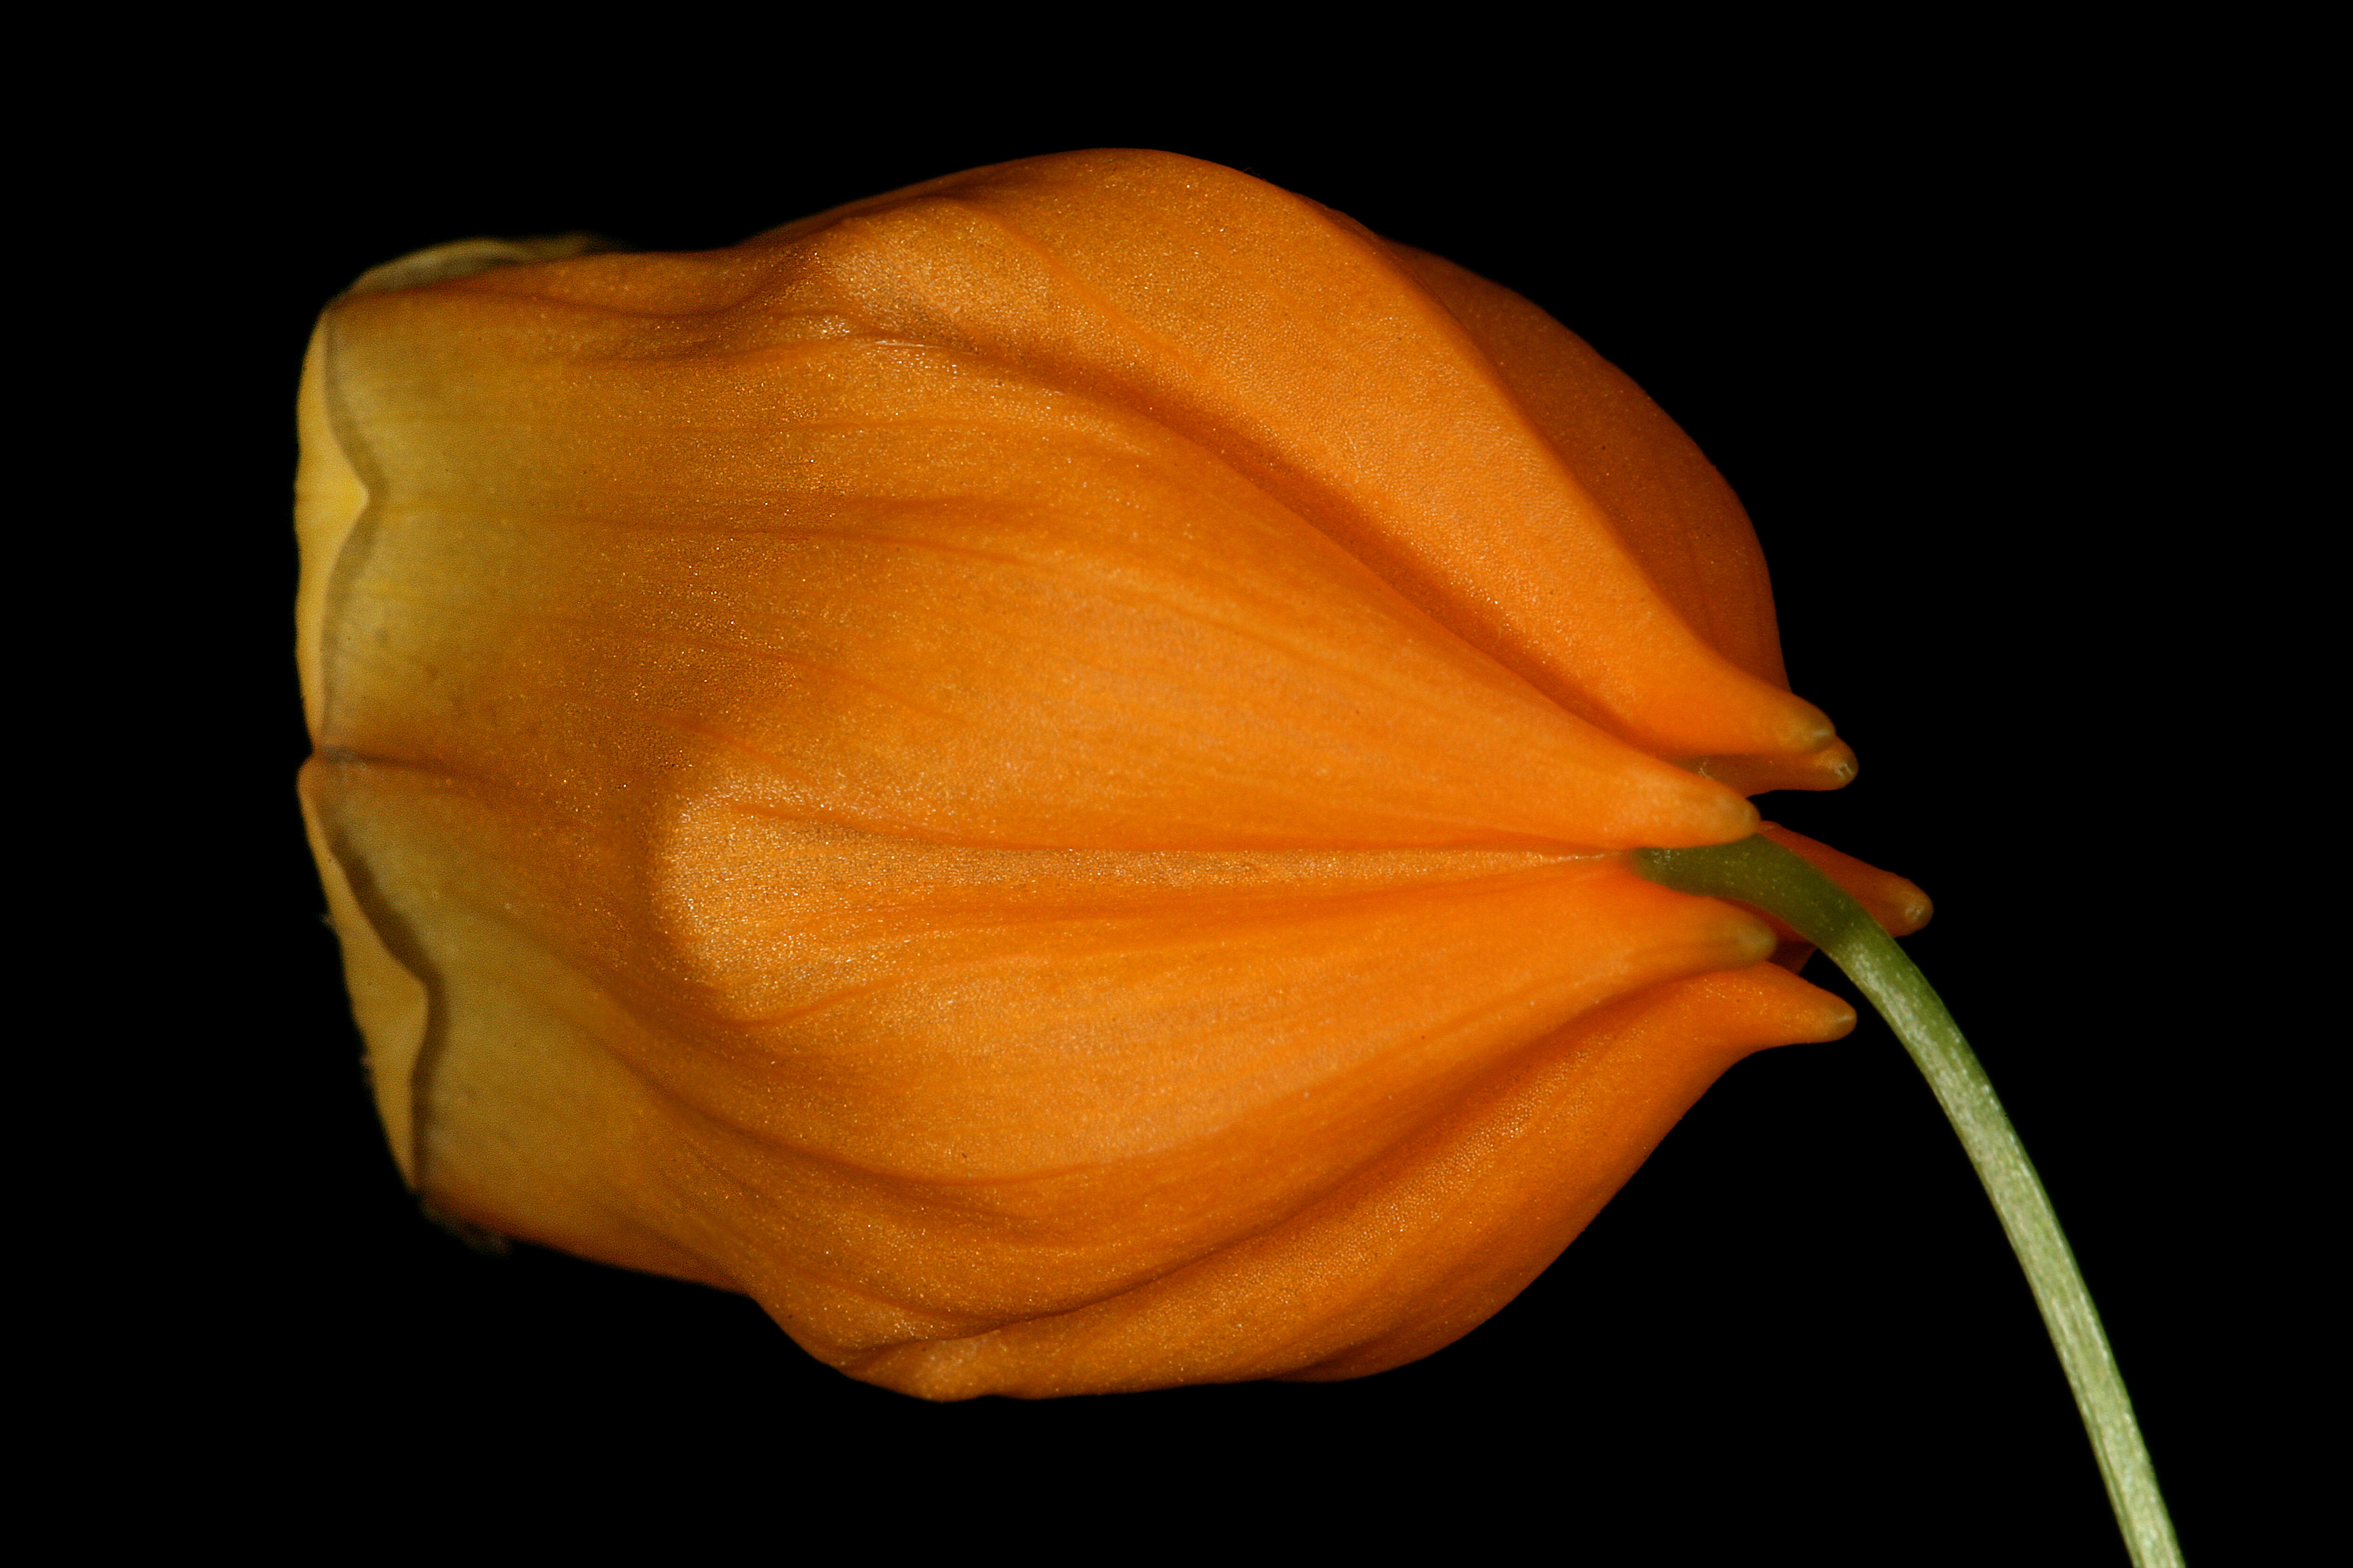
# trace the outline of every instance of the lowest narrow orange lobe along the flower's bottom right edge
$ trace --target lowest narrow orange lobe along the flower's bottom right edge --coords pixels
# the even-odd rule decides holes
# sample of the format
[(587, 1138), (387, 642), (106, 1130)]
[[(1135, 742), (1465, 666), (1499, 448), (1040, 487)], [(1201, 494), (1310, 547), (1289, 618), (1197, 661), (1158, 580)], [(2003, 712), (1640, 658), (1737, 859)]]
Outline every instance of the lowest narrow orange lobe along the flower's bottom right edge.
[(1499, 1065), (1442, 1121), (1266, 1234), (1080, 1312), (845, 1368), (969, 1399), (1414, 1361), (1544, 1272), (1725, 1067), (1852, 1025), (1845, 1004), (1769, 964), (1664, 985)]

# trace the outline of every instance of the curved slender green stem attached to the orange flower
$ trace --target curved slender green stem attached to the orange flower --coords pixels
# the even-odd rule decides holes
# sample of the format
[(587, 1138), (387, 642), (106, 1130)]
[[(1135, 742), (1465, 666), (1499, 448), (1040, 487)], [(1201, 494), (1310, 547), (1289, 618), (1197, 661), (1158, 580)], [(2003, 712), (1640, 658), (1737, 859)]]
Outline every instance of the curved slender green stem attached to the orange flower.
[(2148, 1443), (2141, 1441), (2141, 1425), (2132, 1418), (2132, 1396), (2125, 1394), (2125, 1378), (2115, 1371), (2115, 1354), (2075, 1267), (2075, 1253), (2068, 1251), (2052, 1199), (2026, 1159), (2026, 1145), (2009, 1126), (2002, 1103), (1993, 1095), (1986, 1070), (1960, 1037), (1953, 1016), (1944, 1011), (1944, 1001), (1929, 990), (1927, 976), (1864, 905), (1772, 839), (1753, 837), (1706, 849), (1642, 849), (1635, 851), (1635, 870), (1682, 893), (1729, 898), (1781, 917), (1805, 940), (1828, 952), (1831, 961), (1880, 1009), (1880, 1018), (1937, 1091), (1937, 1103), (1960, 1133), (1960, 1145), (1969, 1152), (2002, 1229), (2009, 1232), (2009, 1246), (2026, 1267), (2026, 1284), (2033, 1286), (2042, 1326), (2049, 1328), (2068, 1387), (2075, 1389), (2075, 1408), (2082, 1413), (2085, 1432), (2092, 1434), (2092, 1453), (2099, 1455), (2099, 1474), (2108, 1483), (2108, 1507), (2115, 1509), (2134, 1568), (2179, 1568), (2181, 1544), (2174, 1540), (2172, 1519), (2165, 1516), (2158, 1472), (2148, 1462)]

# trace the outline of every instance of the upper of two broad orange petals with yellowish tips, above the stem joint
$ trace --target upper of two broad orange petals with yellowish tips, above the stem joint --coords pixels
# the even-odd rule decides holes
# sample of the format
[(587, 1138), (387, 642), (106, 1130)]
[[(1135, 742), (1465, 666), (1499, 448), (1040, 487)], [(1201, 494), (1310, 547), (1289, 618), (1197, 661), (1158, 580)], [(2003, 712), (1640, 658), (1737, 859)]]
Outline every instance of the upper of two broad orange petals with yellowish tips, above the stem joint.
[[(569, 266), (626, 301), (633, 261)], [(741, 353), (765, 308), (675, 327), (464, 287), (336, 313), (369, 501), (322, 745), (581, 785), (725, 759), (774, 811), (1007, 846), (1753, 823), (1151, 418), (824, 327)]]

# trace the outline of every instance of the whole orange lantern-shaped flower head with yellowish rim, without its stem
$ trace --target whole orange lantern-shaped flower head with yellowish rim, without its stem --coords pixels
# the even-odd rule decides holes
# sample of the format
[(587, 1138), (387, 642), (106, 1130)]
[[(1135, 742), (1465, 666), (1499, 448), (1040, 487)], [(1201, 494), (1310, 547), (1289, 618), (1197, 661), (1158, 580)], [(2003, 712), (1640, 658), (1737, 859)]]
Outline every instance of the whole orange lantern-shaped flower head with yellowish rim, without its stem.
[(299, 517), (402, 1171), (873, 1382), (1424, 1356), (1852, 1023), (1624, 856), (1852, 776), (1729, 489), (1527, 301), (1214, 165), (379, 268)]

